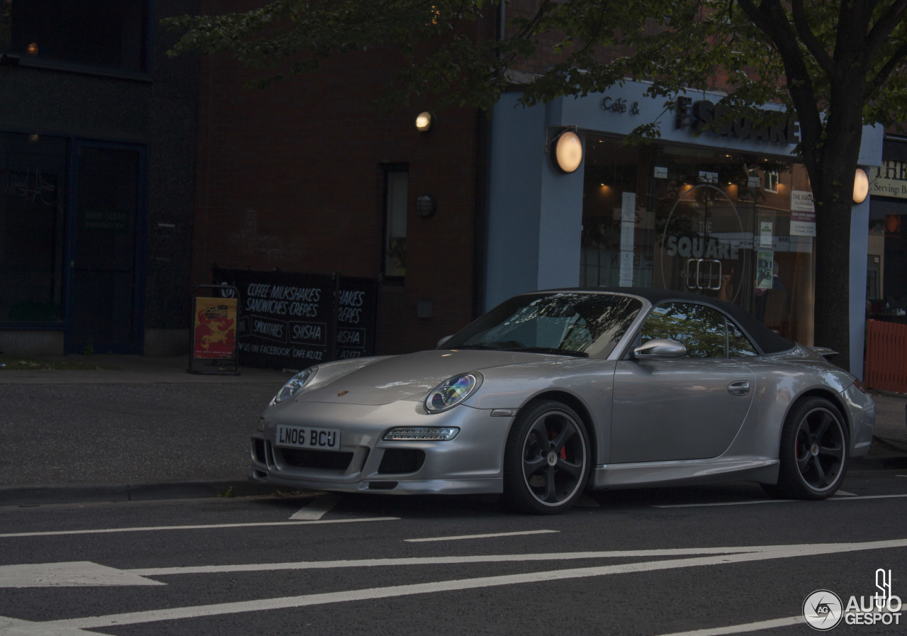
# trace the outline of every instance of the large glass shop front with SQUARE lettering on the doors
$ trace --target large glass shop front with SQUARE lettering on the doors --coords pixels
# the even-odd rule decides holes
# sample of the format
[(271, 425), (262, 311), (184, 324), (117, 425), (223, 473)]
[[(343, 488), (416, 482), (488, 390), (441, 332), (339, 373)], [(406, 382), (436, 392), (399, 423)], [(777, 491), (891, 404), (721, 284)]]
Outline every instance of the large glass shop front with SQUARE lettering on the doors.
[(801, 164), (592, 134), (587, 149), (581, 285), (696, 292), (812, 343), (817, 213)]

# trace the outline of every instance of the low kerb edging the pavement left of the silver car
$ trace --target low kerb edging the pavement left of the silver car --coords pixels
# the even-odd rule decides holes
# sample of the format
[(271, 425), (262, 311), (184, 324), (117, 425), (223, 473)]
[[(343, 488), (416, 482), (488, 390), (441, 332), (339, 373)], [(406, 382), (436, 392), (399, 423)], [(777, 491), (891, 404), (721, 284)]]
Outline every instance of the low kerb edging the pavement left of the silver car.
[(0, 487), (0, 506), (91, 504), (164, 499), (268, 496), (278, 492), (273, 485), (242, 479), (156, 484), (55, 484)]

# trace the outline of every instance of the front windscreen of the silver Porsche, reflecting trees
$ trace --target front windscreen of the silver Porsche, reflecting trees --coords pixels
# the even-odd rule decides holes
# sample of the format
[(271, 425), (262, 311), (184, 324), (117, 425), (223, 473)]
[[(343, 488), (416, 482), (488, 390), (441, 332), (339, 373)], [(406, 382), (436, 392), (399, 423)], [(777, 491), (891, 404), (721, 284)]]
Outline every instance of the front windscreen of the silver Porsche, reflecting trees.
[(526, 294), (493, 308), (443, 347), (607, 357), (640, 308), (638, 298), (615, 294)]

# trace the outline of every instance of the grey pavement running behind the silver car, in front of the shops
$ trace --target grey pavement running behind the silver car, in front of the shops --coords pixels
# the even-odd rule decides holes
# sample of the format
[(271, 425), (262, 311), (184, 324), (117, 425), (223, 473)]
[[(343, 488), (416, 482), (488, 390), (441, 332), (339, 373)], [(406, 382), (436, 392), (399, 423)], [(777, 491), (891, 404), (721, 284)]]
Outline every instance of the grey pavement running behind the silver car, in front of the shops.
[[(247, 480), (249, 434), (291, 372), (190, 374), (188, 357), (58, 359), (119, 369), (0, 370), (0, 505), (277, 490)], [(872, 393), (875, 439), (850, 470), (907, 469), (907, 396)]]

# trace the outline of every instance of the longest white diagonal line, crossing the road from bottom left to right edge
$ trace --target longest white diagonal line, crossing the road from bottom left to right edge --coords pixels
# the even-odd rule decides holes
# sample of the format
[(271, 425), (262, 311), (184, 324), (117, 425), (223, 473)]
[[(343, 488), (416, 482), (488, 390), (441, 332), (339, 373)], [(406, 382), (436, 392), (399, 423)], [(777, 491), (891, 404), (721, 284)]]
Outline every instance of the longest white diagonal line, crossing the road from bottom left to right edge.
[[(365, 590), (348, 590), (341, 592), (326, 592), (320, 594), (305, 594), (275, 599), (258, 599), (255, 601), (224, 602), (210, 605), (196, 605), (190, 607), (177, 607), (171, 609), (157, 609), (146, 612), (125, 612), (121, 614), (108, 614), (106, 616), (88, 616), (85, 618), (60, 619), (57, 621), (44, 621), (33, 623), (17, 623), (19, 630), (17, 636), (63, 636), (73, 633), (73, 629), (92, 630), (102, 627), (119, 625), (136, 625), (140, 623), (157, 621), (177, 621), (180, 619), (200, 618), (204, 616), (219, 616), (241, 612), (262, 612), (268, 610), (282, 610), (314, 605), (349, 601), (372, 601), (376, 599), (394, 598), (414, 594), (429, 594), (434, 592), (459, 592), (475, 590), (502, 585), (520, 583), (552, 582), (567, 579), (588, 578), (593, 576), (606, 576), (610, 574), (624, 574), (635, 572), (655, 572), (659, 570), (672, 570), (688, 567), (701, 567), (706, 565), (722, 565), (725, 563), (747, 563), (767, 561), (771, 559), (787, 559), (792, 557), (814, 556), (819, 554), (840, 554), (866, 550), (891, 550), (894, 548), (907, 548), (907, 539), (890, 541), (876, 541), (867, 543), (816, 543), (811, 545), (777, 545), (761, 549), (755, 553), (732, 553), (717, 556), (698, 556), (689, 559), (671, 559), (668, 561), (650, 561), (644, 563), (620, 563), (618, 565), (603, 565), (588, 568), (572, 568), (567, 570), (552, 570), (547, 572), (525, 572), (520, 574), (504, 574), (499, 576), (483, 576), (473, 579), (457, 579), (453, 581), (438, 581), (415, 583), (409, 585), (392, 585), (387, 587), (369, 588)], [(734, 548), (727, 548), (734, 550)], [(0, 617), (0, 626), (5, 624), (5, 619)], [(6, 623), (8, 624), (8, 623)]]

